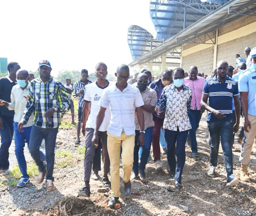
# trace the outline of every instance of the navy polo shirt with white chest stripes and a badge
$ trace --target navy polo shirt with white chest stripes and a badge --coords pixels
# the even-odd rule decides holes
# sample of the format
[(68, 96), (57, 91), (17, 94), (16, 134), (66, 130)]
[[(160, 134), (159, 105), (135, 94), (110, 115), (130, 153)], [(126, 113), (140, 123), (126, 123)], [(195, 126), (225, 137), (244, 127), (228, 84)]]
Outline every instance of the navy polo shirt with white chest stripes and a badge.
[(227, 76), (224, 83), (221, 83), (215, 75), (208, 80), (203, 87), (203, 93), (209, 95), (209, 106), (226, 115), (222, 120), (217, 119), (211, 112), (208, 112), (207, 121), (227, 121), (232, 119), (233, 96), (239, 95), (238, 83)]

